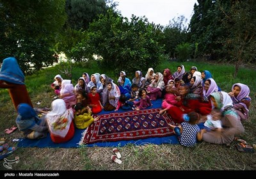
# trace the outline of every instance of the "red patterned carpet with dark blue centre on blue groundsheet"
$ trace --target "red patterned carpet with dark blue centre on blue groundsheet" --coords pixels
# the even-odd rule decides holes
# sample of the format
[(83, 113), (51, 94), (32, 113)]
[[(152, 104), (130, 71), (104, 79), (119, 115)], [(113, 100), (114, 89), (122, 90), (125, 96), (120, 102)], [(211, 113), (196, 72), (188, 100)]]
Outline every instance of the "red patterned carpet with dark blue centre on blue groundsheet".
[(100, 114), (100, 120), (90, 125), (83, 136), (83, 144), (172, 136), (174, 125), (161, 109), (144, 109), (124, 113)]

